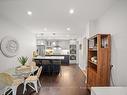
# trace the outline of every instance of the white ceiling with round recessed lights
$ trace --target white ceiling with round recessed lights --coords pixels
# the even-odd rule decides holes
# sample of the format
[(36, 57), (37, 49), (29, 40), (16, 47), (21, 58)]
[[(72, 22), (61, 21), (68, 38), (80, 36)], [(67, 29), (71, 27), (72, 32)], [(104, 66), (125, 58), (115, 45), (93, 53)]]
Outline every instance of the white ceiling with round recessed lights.
[[(29, 32), (44, 35), (81, 35), (89, 20), (96, 19), (116, 0), (0, 0), (0, 18)], [(69, 14), (73, 8), (75, 13)], [(32, 16), (27, 15), (32, 11)], [(47, 27), (47, 31), (44, 28)], [(66, 28), (71, 30), (67, 31)]]

